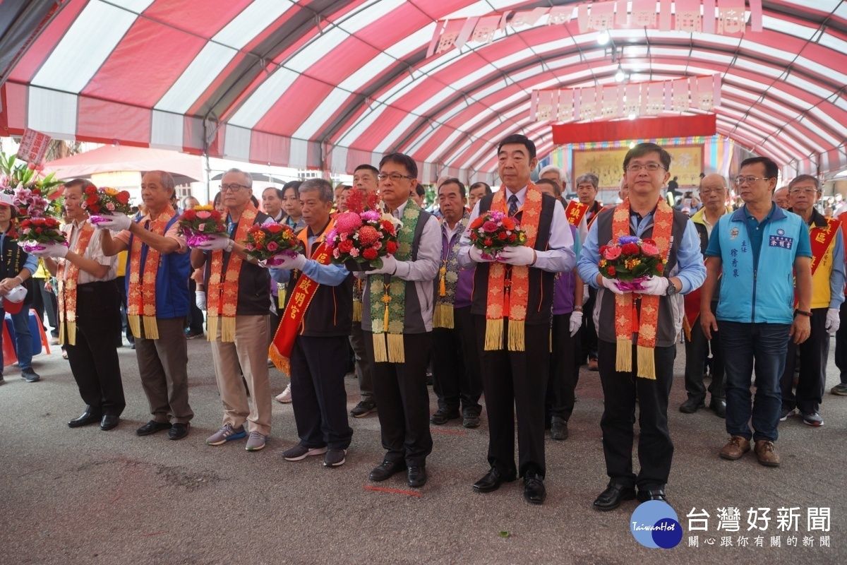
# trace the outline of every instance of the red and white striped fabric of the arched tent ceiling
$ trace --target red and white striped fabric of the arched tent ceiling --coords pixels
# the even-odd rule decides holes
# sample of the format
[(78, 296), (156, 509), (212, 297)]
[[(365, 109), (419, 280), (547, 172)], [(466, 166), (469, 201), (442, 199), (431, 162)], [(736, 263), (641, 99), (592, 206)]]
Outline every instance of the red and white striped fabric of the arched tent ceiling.
[[(0, 126), (334, 172), (401, 151), (422, 180), (472, 179), (509, 133), (554, 147), (529, 119), (534, 89), (614, 83), (617, 62), (575, 19), (426, 58), (436, 21), (578, 3), (42, 2), (58, 9), (29, 17)], [(847, 0), (762, 4), (762, 32), (610, 35), (634, 81), (721, 73), (719, 134), (788, 171), (847, 165)]]

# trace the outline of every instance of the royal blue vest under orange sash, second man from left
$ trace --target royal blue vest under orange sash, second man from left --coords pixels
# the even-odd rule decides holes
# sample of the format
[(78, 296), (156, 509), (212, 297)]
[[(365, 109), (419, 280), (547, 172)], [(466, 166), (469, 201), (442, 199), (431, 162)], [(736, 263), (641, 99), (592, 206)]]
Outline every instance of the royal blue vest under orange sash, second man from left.
[[(179, 215), (174, 215), (165, 227), (165, 233), (174, 224)], [(136, 219), (136, 224), (141, 219)], [(130, 252), (126, 258), (127, 264), (132, 264), (132, 238), (130, 235)], [(141, 243), (141, 275), (150, 248)], [(188, 253), (159, 254), (159, 264), (156, 271), (156, 318), (181, 318), (187, 316), (190, 307), (191, 294), (188, 292), (188, 277), (191, 275), (191, 256)], [(130, 292), (130, 277), (126, 277), (126, 292)]]

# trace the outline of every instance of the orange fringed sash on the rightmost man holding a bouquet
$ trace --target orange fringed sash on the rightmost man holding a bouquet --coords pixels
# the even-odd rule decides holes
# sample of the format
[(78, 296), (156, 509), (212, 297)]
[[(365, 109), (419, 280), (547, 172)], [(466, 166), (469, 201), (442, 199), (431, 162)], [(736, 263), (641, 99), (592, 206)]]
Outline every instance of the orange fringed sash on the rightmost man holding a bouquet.
[[(631, 235), (629, 225), (629, 198), (618, 204), (612, 218), (612, 241), (622, 235)], [(664, 198), (659, 198), (656, 213), (653, 216), (652, 240), (662, 258), (667, 258), (671, 248), (671, 230), (673, 229), (673, 209)], [(622, 373), (633, 370), (632, 335), (638, 333), (638, 375), (645, 379), (656, 379), (656, 359), (653, 349), (656, 347), (656, 326), (659, 322), (660, 296), (633, 292), (615, 295), (615, 336), (617, 337), (617, 360), (615, 369)], [(640, 317), (640, 321), (639, 321)]]

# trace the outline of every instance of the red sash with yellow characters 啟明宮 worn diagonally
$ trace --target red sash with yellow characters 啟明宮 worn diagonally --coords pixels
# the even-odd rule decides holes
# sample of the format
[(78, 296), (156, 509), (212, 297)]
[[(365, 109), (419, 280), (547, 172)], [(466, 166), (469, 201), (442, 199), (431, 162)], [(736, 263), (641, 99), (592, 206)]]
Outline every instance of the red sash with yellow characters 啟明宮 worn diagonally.
[[(330, 220), (329, 225), (324, 229), (324, 234), (332, 230), (333, 224), (335, 224), (335, 221)], [(305, 243), (307, 258), (309, 258), (307, 230), (308, 228), (301, 230), (297, 237)], [(311, 258), (322, 265), (329, 264), (329, 260), (332, 258), (332, 250), (326, 245), (326, 241), (321, 241), (320, 246)], [(318, 291), (318, 286), (320, 285), (309, 279), (305, 274), (300, 275), (294, 290), (291, 291), (291, 299), (285, 306), (280, 327), (277, 328), (274, 341), (271, 342), (268, 350), (268, 357), (274, 362), (276, 368), (289, 376), (291, 376), (291, 349), (294, 348), (294, 340), (301, 329), (303, 317), (306, 315), (309, 304), (312, 303), (315, 292)]]

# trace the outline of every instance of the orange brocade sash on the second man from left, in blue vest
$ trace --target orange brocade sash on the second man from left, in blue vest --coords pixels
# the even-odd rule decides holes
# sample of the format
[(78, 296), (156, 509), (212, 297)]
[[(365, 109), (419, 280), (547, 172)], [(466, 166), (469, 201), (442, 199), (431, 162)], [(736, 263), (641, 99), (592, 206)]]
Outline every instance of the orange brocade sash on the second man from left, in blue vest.
[[(176, 215), (174, 208), (165, 208), (157, 219), (152, 220), (150, 231), (164, 235), (168, 222)], [(144, 277), (141, 279), (141, 250), (145, 246), (140, 237), (132, 238), (130, 248), (130, 288), (126, 296), (126, 320), (130, 324), (132, 335), (141, 337), (141, 319), (144, 320), (144, 337), (158, 340), (156, 325), (156, 273), (158, 272), (159, 252), (147, 246), (147, 258), (144, 261)]]

